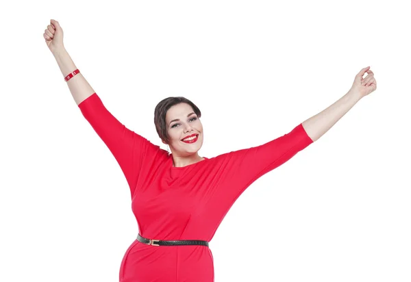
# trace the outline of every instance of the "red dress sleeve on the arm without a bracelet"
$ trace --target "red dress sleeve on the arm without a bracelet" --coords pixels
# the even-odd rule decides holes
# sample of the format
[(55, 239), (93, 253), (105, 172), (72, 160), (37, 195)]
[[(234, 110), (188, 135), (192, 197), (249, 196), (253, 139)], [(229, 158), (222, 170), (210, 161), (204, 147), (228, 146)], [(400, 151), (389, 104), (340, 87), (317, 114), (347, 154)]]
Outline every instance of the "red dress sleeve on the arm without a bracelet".
[(266, 172), (281, 166), (312, 143), (302, 124), (284, 136), (249, 149), (233, 151), (223, 156), (223, 190), (220, 200), (232, 205), (244, 190)]

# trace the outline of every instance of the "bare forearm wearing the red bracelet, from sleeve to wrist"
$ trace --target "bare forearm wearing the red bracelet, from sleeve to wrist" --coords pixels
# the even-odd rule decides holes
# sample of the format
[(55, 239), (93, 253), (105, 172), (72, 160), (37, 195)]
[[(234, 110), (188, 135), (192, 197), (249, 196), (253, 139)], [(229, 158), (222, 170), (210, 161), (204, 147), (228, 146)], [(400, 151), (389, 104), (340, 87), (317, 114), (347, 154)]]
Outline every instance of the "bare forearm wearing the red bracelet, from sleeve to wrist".
[[(72, 73), (75, 69), (77, 69), (66, 49), (59, 49), (58, 51), (55, 51), (53, 55), (58, 66), (60, 67), (63, 77), (66, 77), (66, 75), (69, 75), (69, 73)], [(78, 73), (74, 77), (71, 77), (66, 84), (69, 86), (70, 92), (73, 95), (77, 105), (82, 103), (82, 101), (90, 97), (91, 94), (95, 92), (90, 84), (88, 84), (82, 73)]]

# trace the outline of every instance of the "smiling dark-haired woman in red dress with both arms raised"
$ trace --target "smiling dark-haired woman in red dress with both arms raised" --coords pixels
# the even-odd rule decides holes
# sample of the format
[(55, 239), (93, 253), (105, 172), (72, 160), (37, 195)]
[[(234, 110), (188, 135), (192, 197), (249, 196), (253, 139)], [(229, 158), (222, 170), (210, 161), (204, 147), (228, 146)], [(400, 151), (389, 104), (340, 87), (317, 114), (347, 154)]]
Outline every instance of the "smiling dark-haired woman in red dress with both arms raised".
[(79, 109), (116, 158), (129, 185), (139, 234), (121, 262), (123, 282), (214, 281), (208, 242), (238, 196), (318, 140), (377, 87), (373, 72), (363, 68), (347, 94), (284, 136), (210, 159), (198, 154), (203, 144), (199, 108), (183, 97), (169, 97), (155, 107), (154, 122), (170, 154), (108, 112), (64, 49), (57, 21), (51, 20), (43, 36)]

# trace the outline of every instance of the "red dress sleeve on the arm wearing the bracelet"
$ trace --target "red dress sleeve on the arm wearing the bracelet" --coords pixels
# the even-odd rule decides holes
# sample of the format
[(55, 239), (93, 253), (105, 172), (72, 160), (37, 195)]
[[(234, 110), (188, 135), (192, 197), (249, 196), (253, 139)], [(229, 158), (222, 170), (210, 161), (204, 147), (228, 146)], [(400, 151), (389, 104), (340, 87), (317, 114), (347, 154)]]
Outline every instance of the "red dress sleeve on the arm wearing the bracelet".
[(133, 196), (142, 164), (159, 153), (160, 146), (127, 129), (105, 108), (96, 93), (78, 107), (119, 163)]

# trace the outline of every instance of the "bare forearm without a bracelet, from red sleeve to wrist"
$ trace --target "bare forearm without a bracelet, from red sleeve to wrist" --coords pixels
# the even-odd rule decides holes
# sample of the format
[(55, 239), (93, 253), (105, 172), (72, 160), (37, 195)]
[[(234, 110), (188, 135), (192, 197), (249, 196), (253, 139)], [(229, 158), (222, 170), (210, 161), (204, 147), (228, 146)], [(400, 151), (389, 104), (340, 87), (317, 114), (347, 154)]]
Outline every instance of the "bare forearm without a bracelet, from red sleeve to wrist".
[(308, 136), (315, 142), (319, 140), (331, 127), (333, 127), (340, 118), (360, 101), (360, 95), (356, 92), (347, 92), (334, 104), (327, 107), (325, 110), (308, 118), (303, 122), (303, 127), (306, 129)]

